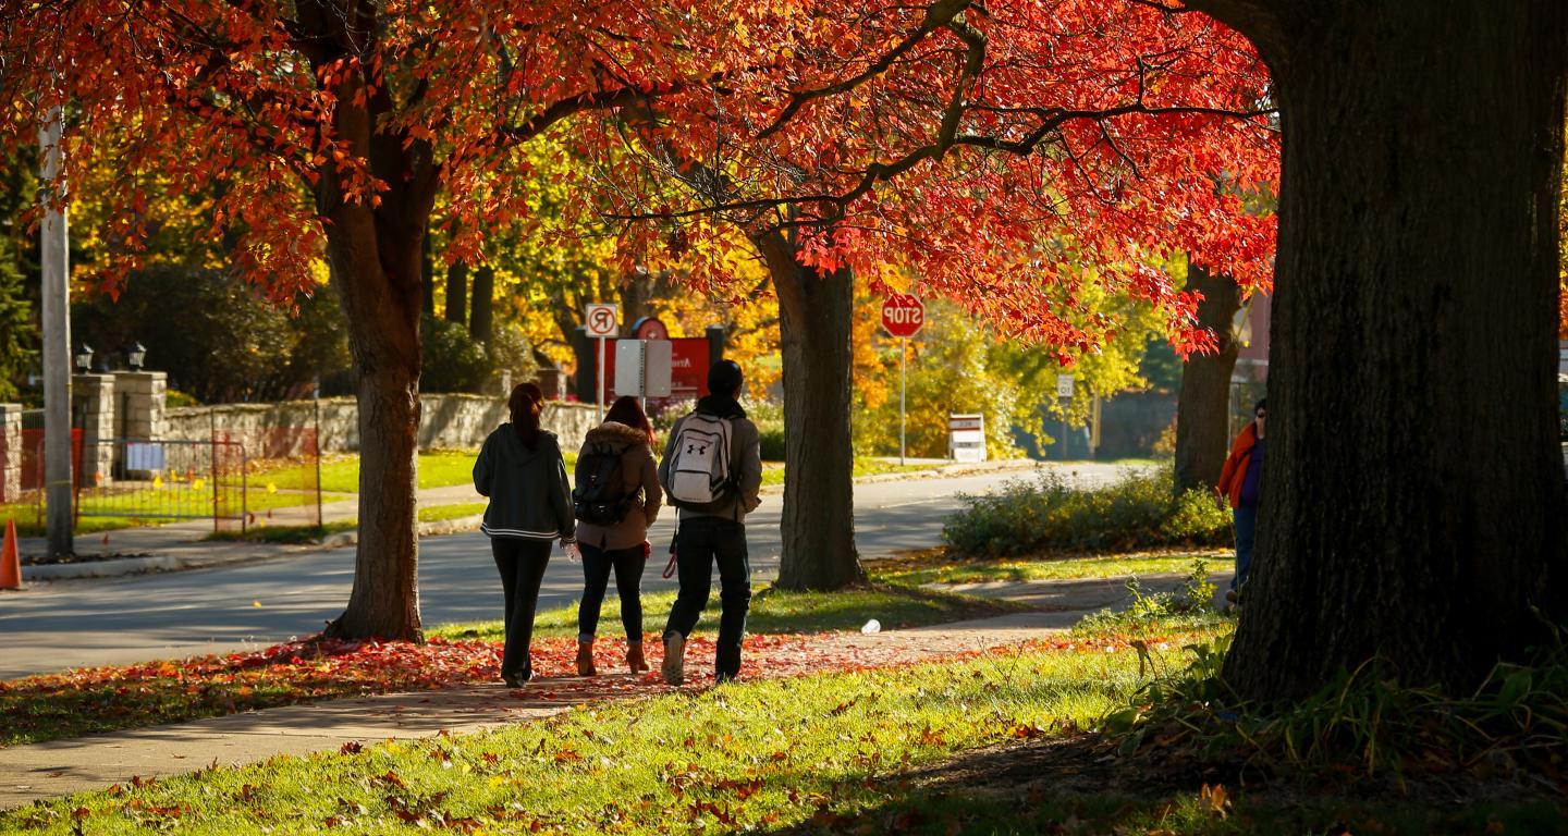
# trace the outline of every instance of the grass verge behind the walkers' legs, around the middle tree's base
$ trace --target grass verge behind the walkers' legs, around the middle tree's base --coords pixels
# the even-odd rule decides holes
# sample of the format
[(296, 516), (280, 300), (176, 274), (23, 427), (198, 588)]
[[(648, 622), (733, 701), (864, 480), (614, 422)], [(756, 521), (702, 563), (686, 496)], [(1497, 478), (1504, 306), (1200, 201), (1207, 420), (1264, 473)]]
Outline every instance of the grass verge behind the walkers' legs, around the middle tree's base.
[[(643, 593), (644, 629), (648, 624), (662, 620), (670, 612), (674, 599), (674, 590)], [(599, 610), (601, 634), (605, 631), (618, 632), (621, 629), (619, 605), (619, 598), (612, 590), (605, 596), (604, 607)], [(753, 594), (751, 612), (746, 615), (746, 632), (762, 635), (858, 631), (872, 618), (880, 621), (883, 629), (902, 629), (963, 621), (967, 618), (986, 618), (1016, 610), (1018, 605), (1004, 601), (895, 585), (836, 593), (792, 593), (770, 587)], [(715, 596), (715, 601), (710, 601), (707, 610), (702, 613), (699, 629), (704, 626), (713, 629), (717, 624), (718, 601)], [(505, 638), (500, 621), (441, 624), (431, 627), (428, 634), (452, 640), (485, 638), (500, 642)], [(533, 634), (539, 637), (577, 635), (577, 604), (541, 610), (535, 616)]]

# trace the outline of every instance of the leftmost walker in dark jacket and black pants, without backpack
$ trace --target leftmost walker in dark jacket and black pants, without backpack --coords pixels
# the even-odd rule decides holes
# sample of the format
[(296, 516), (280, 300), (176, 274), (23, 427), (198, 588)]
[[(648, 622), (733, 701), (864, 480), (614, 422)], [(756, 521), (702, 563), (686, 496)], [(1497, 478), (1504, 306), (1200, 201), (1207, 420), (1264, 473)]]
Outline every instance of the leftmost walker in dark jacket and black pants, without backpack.
[(528, 649), (539, 582), (550, 560), (550, 543), (574, 546), (572, 486), (555, 433), (539, 428), (544, 392), (521, 383), (506, 398), (511, 422), (497, 427), (474, 463), (474, 489), (489, 497), (480, 530), (489, 535), (500, 588), (506, 601), (506, 649), (500, 679), (519, 687), (533, 679)]

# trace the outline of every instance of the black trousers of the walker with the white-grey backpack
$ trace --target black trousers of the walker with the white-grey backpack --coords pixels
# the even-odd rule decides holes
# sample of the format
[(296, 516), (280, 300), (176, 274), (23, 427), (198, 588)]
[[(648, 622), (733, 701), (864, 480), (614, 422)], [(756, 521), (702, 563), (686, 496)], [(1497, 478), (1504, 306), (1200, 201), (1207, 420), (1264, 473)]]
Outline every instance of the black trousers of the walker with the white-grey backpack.
[(746, 562), (746, 527), (734, 519), (699, 516), (681, 521), (676, 535), (676, 571), (681, 593), (670, 610), (665, 638), (691, 635), (713, 583), (718, 563), (718, 648), (713, 659), (715, 679), (734, 679), (740, 673), (740, 640), (746, 632), (746, 610), (751, 607), (751, 565)]

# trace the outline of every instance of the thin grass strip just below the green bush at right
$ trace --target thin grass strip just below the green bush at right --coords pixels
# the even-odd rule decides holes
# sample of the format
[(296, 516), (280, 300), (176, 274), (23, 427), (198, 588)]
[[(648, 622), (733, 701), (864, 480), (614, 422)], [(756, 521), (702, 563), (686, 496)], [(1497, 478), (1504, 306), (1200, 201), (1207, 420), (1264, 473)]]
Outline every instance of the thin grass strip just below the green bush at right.
[(870, 563), (867, 569), (887, 583), (983, 583), (994, 580), (1077, 580), (1181, 574), (1192, 569), (1195, 558), (1210, 565), (1226, 565), (1229, 552), (1135, 552), (1087, 557), (1022, 557), (1004, 560), (964, 560), (931, 555)]

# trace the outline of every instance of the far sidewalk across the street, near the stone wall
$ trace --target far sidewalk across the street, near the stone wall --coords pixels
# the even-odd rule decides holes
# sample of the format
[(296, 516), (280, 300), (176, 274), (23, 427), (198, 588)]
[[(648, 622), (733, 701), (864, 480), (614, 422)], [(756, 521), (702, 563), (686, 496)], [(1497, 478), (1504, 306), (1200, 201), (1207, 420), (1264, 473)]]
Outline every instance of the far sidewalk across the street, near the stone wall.
[[(898, 482), (909, 478), (941, 478), (953, 475), (989, 474), (1002, 471), (1033, 471), (1041, 463), (1030, 460), (1004, 460), (982, 463), (949, 463), (941, 460), (909, 460), (909, 464), (933, 464), (930, 471), (913, 474), (877, 474), (859, 477), (856, 483)], [(770, 485), (764, 494), (781, 494), (782, 485)], [(485, 502), (472, 485), (450, 485), (442, 488), (423, 488), (419, 491), (419, 507), (463, 505)], [(310, 508), (314, 511), (314, 508)], [(262, 521), (268, 525), (304, 525), (314, 519), (314, 513), (306, 516), (304, 508), (274, 508)], [(321, 521), (325, 524), (359, 519), (359, 497), (339, 499), (321, 503)], [(420, 536), (434, 536), (453, 532), (470, 532), (480, 527), (480, 514), (444, 519), (437, 522), (422, 522)], [(86, 560), (77, 563), (27, 565), (22, 566), (24, 582), (63, 580), (74, 577), (116, 577), (124, 574), (179, 571), (227, 563), (245, 563), (251, 560), (270, 560), (290, 554), (310, 552), (315, 549), (336, 549), (354, 543), (354, 532), (340, 532), (328, 536), (318, 544), (271, 544), (246, 541), (205, 541), (204, 536), (213, 532), (212, 521), (174, 522), (146, 529), (118, 529), (78, 535), (75, 538), (77, 554)], [(47, 552), (47, 541), (41, 536), (19, 538), (19, 551), (24, 555), (42, 555)], [(136, 557), (103, 557), (94, 555), (136, 555)]]

